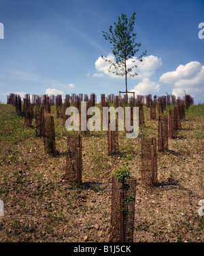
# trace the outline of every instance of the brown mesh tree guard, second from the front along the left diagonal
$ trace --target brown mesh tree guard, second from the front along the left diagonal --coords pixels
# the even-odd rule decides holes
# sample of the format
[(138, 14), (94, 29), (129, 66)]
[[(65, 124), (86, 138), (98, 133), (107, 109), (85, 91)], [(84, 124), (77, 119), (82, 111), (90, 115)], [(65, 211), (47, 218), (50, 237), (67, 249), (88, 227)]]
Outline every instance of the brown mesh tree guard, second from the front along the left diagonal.
[(70, 185), (82, 183), (82, 138), (76, 133), (67, 135), (65, 180)]

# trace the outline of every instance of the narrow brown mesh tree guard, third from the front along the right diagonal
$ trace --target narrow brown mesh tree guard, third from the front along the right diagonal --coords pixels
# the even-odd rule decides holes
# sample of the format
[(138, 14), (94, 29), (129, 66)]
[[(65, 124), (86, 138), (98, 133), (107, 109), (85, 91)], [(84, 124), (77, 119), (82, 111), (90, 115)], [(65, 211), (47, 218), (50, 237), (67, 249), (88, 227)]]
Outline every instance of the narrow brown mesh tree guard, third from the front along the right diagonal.
[(168, 116), (160, 115), (158, 117), (158, 151), (169, 150), (168, 137)]

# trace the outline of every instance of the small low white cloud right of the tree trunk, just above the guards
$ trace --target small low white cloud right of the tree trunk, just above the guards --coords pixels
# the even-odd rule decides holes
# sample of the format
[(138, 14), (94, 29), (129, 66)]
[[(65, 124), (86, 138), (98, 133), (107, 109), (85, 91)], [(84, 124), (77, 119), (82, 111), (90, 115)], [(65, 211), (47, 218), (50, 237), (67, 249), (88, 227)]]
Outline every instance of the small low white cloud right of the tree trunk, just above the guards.
[(150, 81), (150, 78), (143, 78), (131, 91), (135, 92), (136, 95), (148, 95), (149, 93), (158, 93), (159, 90), (160, 84)]

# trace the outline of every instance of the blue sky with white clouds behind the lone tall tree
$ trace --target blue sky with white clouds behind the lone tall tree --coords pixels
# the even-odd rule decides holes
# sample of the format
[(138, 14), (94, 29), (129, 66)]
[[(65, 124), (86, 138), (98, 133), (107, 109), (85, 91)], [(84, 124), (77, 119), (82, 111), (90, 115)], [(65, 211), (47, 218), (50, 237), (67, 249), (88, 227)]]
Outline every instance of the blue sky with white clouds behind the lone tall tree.
[(0, 0), (0, 101), (9, 93), (100, 99), (124, 91), (124, 77), (109, 74), (101, 59), (113, 58), (102, 31), (133, 12), (138, 57), (147, 55), (138, 76), (128, 79), (129, 91), (181, 97), (185, 91), (204, 102), (204, 1), (198, 0)]

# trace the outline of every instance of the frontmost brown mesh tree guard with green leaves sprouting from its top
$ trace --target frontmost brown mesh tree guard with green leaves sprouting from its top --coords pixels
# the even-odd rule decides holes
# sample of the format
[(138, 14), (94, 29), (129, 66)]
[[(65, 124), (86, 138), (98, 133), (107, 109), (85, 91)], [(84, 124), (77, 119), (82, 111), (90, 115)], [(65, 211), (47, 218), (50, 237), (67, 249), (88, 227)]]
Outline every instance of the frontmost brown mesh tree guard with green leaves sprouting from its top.
[(133, 242), (136, 180), (128, 178), (126, 186), (112, 177), (112, 206), (109, 242)]

